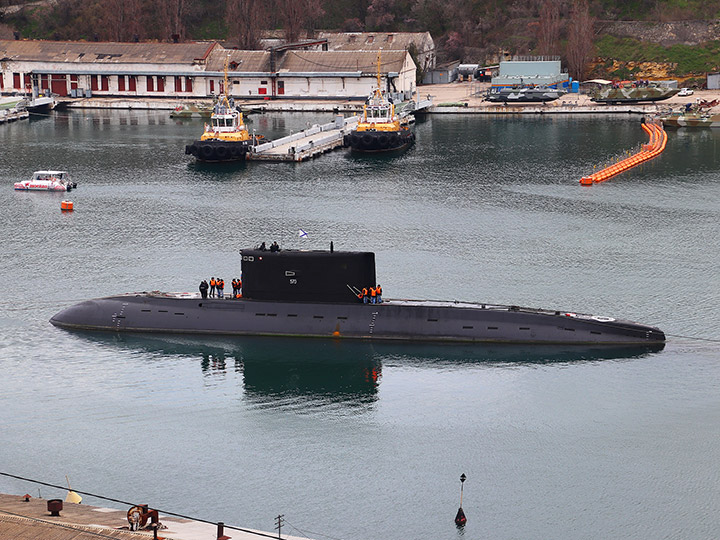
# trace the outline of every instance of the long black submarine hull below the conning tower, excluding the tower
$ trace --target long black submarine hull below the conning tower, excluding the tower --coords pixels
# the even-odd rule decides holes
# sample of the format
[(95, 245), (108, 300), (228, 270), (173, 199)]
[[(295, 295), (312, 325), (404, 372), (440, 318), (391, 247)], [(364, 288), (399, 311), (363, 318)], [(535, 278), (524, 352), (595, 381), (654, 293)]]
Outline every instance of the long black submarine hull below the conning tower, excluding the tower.
[(549, 344), (665, 341), (658, 328), (610, 317), (419, 300), (363, 304), (135, 293), (81, 302), (57, 313), (50, 322), (77, 330), (365, 340)]

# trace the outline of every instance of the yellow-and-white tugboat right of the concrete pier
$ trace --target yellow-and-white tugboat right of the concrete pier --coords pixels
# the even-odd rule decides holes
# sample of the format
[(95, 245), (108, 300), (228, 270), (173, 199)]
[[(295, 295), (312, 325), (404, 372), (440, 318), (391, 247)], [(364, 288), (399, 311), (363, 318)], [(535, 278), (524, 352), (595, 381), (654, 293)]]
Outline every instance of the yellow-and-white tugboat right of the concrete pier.
[(357, 127), (343, 138), (343, 144), (355, 152), (404, 150), (415, 141), (415, 134), (395, 113), (395, 105), (380, 90), (380, 52), (378, 51), (377, 88), (363, 106)]

